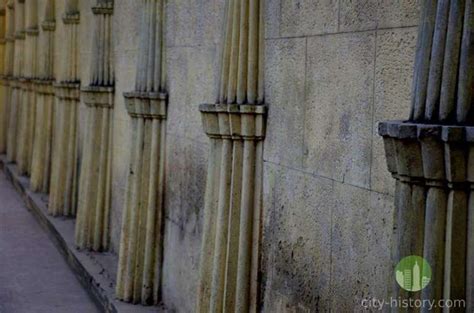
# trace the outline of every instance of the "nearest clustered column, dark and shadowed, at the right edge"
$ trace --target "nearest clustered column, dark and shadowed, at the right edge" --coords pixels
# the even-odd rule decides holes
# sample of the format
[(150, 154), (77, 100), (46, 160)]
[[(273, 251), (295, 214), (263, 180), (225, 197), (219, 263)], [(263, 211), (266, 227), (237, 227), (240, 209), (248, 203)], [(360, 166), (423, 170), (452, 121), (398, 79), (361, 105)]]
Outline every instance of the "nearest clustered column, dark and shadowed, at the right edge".
[(410, 119), (379, 125), (397, 180), (393, 261), (423, 256), (433, 274), (419, 297), (465, 299), (472, 312), (473, 1), (425, 1), (418, 38)]

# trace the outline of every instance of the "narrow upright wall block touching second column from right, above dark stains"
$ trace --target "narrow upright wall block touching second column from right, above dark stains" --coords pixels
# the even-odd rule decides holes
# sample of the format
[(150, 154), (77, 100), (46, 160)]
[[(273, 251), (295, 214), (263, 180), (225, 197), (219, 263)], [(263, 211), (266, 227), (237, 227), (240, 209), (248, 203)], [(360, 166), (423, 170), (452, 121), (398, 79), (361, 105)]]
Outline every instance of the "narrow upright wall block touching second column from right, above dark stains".
[(265, 102), (269, 107), (264, 159), (301, 168), (306, 39), (266, 41)]

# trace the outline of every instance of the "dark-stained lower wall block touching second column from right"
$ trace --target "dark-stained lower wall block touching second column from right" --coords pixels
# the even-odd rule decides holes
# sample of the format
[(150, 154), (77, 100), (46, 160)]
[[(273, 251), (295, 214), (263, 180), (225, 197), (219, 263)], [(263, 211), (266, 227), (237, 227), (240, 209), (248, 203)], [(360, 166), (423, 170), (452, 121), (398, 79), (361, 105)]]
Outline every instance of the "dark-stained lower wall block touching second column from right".
[(331, 269), (333, 181), (265, 165), (265, 312), (287, 298), (290, 308), (327, 311)]

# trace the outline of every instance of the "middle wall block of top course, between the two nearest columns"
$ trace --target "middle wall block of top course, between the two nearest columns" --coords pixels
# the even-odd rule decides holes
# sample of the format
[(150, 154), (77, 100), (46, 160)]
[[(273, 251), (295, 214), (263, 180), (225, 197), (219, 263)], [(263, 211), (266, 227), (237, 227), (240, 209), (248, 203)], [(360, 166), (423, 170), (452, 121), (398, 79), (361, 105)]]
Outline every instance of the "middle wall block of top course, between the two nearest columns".
[(280, 36), (309, 36), (336, 32), (338, 2), (281, 0)]

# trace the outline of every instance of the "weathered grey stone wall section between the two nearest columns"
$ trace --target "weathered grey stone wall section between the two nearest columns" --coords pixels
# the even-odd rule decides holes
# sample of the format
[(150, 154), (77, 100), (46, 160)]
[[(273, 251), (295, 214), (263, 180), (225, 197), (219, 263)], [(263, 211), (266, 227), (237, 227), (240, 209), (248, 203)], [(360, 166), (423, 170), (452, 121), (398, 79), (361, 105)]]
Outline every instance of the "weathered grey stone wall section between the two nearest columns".
[(376, 123), (408, 116), (418, 10), (267, 1), (265, 312), (386, 296), (394, 183)]

